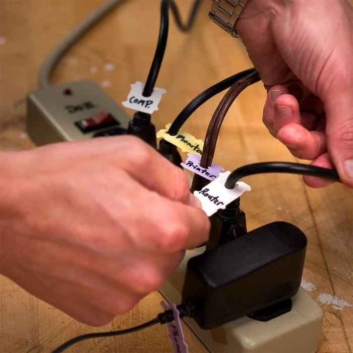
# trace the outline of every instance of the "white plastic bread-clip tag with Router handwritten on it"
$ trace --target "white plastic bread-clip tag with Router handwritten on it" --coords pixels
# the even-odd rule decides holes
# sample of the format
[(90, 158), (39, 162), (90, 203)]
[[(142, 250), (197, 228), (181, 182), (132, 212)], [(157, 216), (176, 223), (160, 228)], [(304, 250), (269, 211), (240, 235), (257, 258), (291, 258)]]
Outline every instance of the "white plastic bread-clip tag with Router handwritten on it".
[(218, 178), (206, 185), (201, 191), (194, 191), (194, 195), (201, 201), (202, 209), (208, 217), (215, 214), (219, 209), (224, 210), (232, 201), (238, 199), (251, 187), (243, 182), (238, 182), (234, 189), (226, 189), (224, 183), (230, 171), (220, 173)]

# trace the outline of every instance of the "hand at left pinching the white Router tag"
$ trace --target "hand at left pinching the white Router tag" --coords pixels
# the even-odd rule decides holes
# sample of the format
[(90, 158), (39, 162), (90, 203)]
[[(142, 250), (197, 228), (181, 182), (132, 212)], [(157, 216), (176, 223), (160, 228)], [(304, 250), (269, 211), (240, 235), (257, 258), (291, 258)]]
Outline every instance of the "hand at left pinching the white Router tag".
[(187, 175), (135, 137), (1, 154), (1, 273), (90, 325), (158, 289), (209, 220)]

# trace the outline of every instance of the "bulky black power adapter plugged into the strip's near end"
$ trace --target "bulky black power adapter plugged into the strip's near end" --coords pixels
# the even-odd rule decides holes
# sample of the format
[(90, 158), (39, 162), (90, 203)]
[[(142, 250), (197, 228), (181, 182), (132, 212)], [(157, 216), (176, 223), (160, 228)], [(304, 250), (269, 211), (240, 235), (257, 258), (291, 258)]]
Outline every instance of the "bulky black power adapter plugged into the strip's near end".
[(301, 284), (306, 245), (295, 225), (274, 222), (205, 251), (188, 262), (183, 301), (194, 303), (203, 329), (284, 314)]

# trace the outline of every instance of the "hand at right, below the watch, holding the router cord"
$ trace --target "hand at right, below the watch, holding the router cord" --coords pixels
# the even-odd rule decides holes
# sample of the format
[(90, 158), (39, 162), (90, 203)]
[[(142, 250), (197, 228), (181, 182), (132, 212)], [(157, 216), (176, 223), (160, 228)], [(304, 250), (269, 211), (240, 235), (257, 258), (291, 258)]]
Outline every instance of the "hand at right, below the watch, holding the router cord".
[[(353, 11), (345, 0), (249, 0), (236, 29), (268, 90), (263, 122), (353, 188)], [(304, 177), (311, 187), (330, 182)]]

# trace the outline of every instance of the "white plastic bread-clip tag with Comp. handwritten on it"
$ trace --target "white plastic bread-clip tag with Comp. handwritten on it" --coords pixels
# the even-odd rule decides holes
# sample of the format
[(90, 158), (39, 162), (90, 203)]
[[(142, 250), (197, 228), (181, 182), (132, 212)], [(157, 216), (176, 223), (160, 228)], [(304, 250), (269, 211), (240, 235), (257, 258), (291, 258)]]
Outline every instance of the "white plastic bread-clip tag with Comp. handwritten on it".
[(162, 94), (166, 93), (163, 88), (154, 88), (152, 94), (149, 97), (142, 95), (145, 84), (143, 82), (135, 82), (131, 85), (131, 91), (125, 102), (122, 102), (124, 106), (144, 113), (153, 113), (158, 110), (158, 104), (162, 99)]

